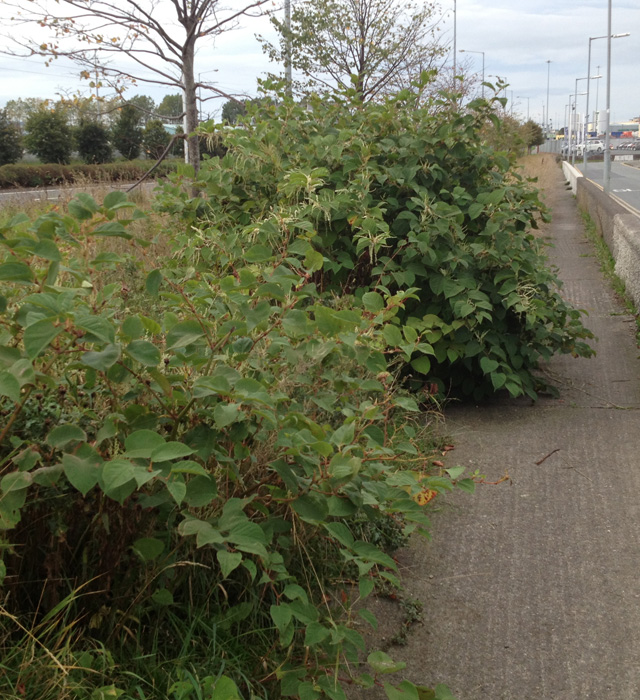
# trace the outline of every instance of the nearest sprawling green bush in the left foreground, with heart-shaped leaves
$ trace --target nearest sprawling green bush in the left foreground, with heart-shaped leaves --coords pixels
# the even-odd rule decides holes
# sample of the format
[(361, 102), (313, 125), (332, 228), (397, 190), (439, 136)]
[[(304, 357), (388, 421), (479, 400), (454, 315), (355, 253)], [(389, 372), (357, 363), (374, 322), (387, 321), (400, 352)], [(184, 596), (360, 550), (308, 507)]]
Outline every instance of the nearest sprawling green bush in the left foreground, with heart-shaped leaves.
[[(388, 372), (405, 293), (324, 302), (298, 200), (203, 232), (206, 257), (174, 222), (159, 267), (119, 192), (0, 229), (6, 619), (64, 619), (41, 643), (81, 675), (79, 697), (95, 679), (158, 700), (216, 683), (229, 698), (343, 698), (343, 679), (400, 668), (382, 652), (363, 667), (355, 620), (374, 620), (342, 612), (398, 581), (362, 522), (425, 532), (421, 495), (474, 484), (432, 465)], [(339, 606), (328, 571), (353, 582)], [(45, 700), (56, 664), (20, 665), (34, 644), (12, 638), (5, 677)]]

